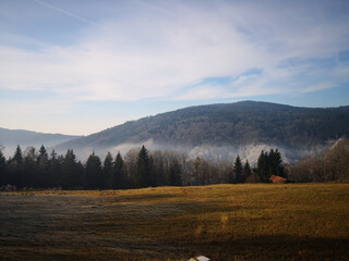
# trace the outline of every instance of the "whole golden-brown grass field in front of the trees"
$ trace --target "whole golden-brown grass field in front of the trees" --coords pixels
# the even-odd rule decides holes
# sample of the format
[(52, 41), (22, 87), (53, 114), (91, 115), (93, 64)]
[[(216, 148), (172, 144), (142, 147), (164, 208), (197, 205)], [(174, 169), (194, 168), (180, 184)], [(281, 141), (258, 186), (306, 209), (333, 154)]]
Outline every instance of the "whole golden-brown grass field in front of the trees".
[(0, 194), (0, 260), (349, 260), (349, 184)]

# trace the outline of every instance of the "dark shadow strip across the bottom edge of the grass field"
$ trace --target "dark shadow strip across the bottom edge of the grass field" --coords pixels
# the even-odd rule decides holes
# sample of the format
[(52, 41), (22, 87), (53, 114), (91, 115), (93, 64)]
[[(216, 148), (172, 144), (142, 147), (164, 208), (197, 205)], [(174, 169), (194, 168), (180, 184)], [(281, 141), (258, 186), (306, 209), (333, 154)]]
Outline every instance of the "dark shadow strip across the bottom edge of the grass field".
[(348, 239), (299, 238), (287, 235), (195, 244), (84, 246), (83, 248), (3, 248), (5, 260), (188, 260), (204, 254), (212, 260), (348, 260)]

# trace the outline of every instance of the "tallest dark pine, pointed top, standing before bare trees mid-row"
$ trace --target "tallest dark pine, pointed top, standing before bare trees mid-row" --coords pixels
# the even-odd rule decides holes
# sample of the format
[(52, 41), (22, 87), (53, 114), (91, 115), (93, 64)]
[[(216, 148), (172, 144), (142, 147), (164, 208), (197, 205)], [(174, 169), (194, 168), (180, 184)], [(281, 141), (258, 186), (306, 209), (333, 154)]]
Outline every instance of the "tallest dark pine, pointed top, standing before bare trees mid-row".
[(148, 187), (151, 185), (151, 161), (148, 151), (142, 146), (137, 157), (136, 187)]

